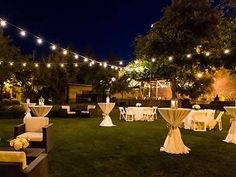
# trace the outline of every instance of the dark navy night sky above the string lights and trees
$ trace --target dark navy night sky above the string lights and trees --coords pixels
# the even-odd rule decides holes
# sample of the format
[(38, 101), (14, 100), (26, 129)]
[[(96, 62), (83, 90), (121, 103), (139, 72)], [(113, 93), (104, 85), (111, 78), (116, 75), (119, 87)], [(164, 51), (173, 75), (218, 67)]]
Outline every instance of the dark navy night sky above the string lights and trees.
[[(145, 34), (170, 1), (0, 0), (0, 17), (63, 47), (73, 44), (78, 52), (91, 48), (98, 58), (113, 53), (130, 60), (135, 37)], [(19, 40), (15, 39), (18, 34), (13, 34), (11, 37)], [(39, 50), (32, 40), (20, 45)]]

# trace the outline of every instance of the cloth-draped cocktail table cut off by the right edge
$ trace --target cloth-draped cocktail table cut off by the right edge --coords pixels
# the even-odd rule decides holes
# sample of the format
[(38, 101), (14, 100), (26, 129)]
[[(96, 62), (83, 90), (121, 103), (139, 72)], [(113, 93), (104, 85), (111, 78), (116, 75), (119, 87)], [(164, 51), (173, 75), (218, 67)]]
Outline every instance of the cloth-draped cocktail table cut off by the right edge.
[(224, 141), (226, 143), (236, 144), (236, 107), (226, 106), (224, 108), (231, 116), (233, 116), (228, 135)]

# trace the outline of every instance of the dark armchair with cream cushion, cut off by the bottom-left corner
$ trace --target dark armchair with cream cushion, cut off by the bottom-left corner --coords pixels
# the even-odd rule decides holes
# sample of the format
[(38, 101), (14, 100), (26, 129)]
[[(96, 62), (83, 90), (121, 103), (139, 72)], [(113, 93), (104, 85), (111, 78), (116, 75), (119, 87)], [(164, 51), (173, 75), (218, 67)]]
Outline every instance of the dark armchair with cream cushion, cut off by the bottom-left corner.
[(26, 164), (24, 152), (0, 151), (1, 177), (48, 177), (47, 154), (43, 153)]

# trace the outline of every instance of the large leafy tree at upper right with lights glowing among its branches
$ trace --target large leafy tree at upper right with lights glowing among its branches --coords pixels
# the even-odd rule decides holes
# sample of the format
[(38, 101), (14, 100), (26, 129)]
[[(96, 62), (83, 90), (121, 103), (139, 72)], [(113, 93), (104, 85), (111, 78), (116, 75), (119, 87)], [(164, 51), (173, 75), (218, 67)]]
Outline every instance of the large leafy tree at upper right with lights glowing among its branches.
[(171, 82), (174, 96), (196, 98), (210, 90), (224, 49), (234, 43), (232, 21), (210, 0), (173, 0), (153, 28), (137, 38), (136, 58), (152, 63), (155, 76)]

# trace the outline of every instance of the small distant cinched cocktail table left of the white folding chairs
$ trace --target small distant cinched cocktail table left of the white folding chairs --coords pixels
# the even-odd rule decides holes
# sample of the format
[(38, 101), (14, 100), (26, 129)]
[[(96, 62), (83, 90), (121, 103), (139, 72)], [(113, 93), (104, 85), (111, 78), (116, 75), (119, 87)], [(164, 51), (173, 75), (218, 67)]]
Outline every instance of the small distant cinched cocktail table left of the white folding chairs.
[(99, 107), (103, 112), (103, 121), (100, 123), (101, 127), (113, 127), (115, 126), (112, 123), (111, 117), (109, 116), (110, 112), (115, 106), (115, 103), (98, 103)]

